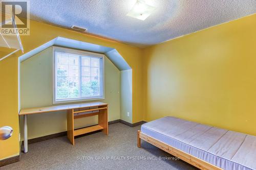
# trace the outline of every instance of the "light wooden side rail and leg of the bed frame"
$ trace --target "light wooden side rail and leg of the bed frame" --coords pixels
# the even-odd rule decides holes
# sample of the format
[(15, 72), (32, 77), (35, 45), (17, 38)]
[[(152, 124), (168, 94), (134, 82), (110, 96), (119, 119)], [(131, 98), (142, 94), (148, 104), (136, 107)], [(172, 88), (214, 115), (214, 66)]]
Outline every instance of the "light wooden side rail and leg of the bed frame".
[(172, 154), (172, 155), (182, 159), (183, 161), (185, 161), (193, 166), (198, 167), (199, 169), (202, 169), (202, 170), (206, 170), (206, 169), (207, 170), (221, 170), (222, 169), (222, 168), (212, 165), (202, 159), (199, 159), (193, 155), (185, 153), (177, 148), (174, 148), (166, 143), (163, 143), (151, 136), (148, 136), (148, 135), (142, 133), (140, 130), (138, 130), (138, 147), (139, 148), (141, 147), (140, 139), (143, 139), (143, 140), (147, 141), (148, 143), (155, 145), (156, 147), (160, 148), (161, 150), (163, 150), (169, 154)]

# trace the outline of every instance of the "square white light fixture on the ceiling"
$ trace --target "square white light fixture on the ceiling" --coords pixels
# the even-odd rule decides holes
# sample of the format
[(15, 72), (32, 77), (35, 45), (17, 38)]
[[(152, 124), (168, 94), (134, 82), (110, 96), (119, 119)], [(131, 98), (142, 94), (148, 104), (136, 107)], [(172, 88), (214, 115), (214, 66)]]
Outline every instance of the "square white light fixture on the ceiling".
[(150, 16), (156, 7), (146, 4), (144, 1), (137, 0), (131, 11), (126, 16), (131, 16), (140, 20), (145, 20)]

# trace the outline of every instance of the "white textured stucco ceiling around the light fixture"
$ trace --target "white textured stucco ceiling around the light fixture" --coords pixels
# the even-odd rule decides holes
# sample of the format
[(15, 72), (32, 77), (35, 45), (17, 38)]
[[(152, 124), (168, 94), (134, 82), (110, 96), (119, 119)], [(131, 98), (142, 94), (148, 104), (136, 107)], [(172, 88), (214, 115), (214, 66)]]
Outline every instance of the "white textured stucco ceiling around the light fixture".
[(157, 44), (256, 12), (256, 0), (144, 0), (156, 8), (144, 21), (126, 14), (136, 0), (30, 0), (33, 20), (137, 46)]

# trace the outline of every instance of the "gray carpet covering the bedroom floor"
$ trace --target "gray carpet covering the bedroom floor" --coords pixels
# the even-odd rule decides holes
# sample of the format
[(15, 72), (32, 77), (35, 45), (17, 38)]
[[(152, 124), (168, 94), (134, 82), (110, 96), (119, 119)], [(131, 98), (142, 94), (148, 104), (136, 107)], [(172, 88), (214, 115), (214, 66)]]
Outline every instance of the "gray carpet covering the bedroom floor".
[(139, 129), (140, 126), (131, 128), (118, 123), (109, 126), (108, 136), (98, 132), (78, 137), (74, 146), (66, 136), (32, 143), (19, 162), (3, 166), (1, 170), (197, 169), (181, 160), (172, 160), (175, 157), (143, 140), (141, 148), (137, 148)]

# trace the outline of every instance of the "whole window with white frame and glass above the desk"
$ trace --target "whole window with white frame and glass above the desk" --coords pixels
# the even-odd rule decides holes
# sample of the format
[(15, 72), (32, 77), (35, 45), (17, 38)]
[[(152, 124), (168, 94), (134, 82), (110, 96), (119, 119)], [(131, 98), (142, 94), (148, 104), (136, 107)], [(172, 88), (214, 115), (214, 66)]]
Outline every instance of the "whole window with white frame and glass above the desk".
[(104, 99), (104, 55), (53, 47), (53, 104)]

